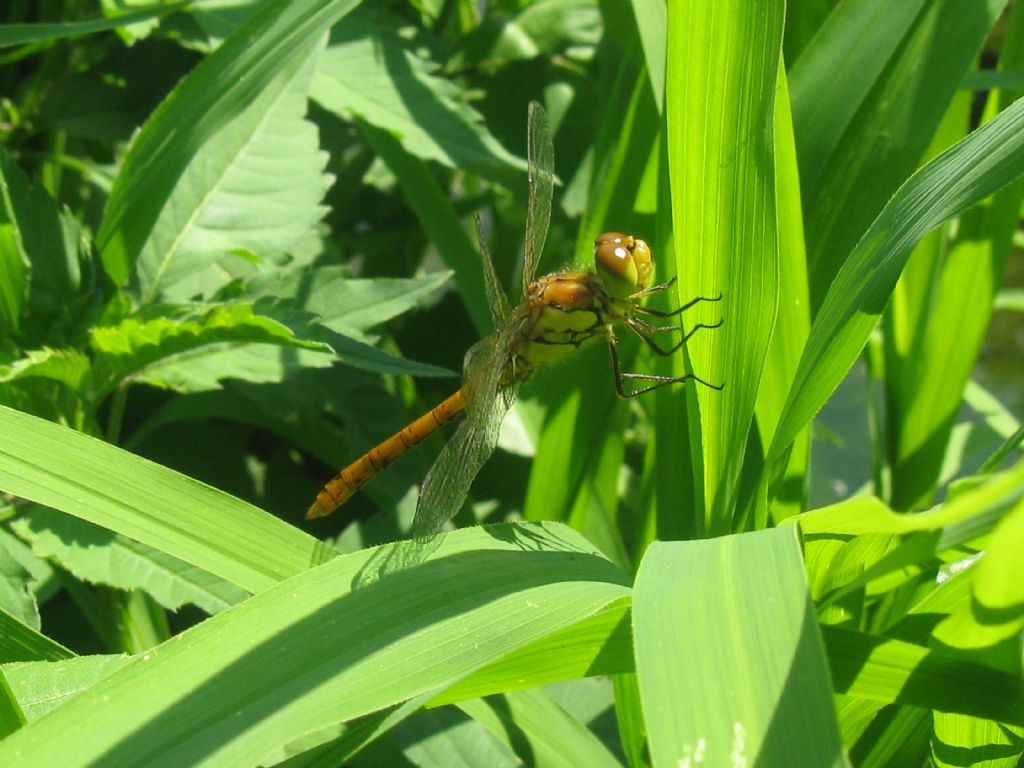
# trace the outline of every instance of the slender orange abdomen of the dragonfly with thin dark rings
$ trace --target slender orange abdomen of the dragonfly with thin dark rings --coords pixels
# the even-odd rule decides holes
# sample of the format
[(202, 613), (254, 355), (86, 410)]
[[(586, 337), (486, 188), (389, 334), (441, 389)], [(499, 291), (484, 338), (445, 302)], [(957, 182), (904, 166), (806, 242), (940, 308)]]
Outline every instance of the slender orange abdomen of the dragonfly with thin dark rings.
[(316, 495), (316, 501), (306, 511), (306, 519), (311, 520), (331, 514), (391, 462), (411, 447), (418, 445), (465, 410), (466, 397), (463, 390), (459, 389), (408, 427), (368, 451), (324, 486)]

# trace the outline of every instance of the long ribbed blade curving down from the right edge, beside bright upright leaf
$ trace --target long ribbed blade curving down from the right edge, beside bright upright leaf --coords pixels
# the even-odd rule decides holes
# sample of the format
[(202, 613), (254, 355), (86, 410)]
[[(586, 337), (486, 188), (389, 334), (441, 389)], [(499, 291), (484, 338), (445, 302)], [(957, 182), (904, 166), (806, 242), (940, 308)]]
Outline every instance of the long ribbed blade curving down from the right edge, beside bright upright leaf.
[(1024, 101), (918, 171), (889, 202), (825, 296), (772, 440), (778, 460), (863, 348), (914, 244), (1024, 172)]

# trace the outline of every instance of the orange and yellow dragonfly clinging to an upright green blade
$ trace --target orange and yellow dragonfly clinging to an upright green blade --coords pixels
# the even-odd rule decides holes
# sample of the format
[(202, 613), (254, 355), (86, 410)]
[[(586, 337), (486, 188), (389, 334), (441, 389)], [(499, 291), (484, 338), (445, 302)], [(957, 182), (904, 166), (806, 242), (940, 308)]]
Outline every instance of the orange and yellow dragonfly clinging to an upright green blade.
[[(681, 326), (655, 325), (656, 322), (677, 317), (699, 302), (718, 301), (722, 297), (698, 297), (670, 311), (641, 306), (637, 303), (639, 299), (668, 291), (676, 282), (673, 278), (668, 283), (650, 285), (653, 260), (651, 249), (643, 240), (605, 232), (594, 243), (593, 269), (563, 269), (535, 279), (551, 221), (554, 186), (551, 129), (547, 113), (537, 101), (529, 104), (526, 155), (528, 197), (522, 301), (514, 308), (511, 306), (477, 217), (484, 286), (496, 332), (466, 352), (462, 387), (455, 394), (342, 469), (316, 496), (306, 513), (307, 519), (333, 512), (407, 451), (465, 413), (465, 419), (424, 478), (417, 503), (413, 536), (417, 539), (434, 536), (462, 507), (473, 479), (494, 453), (502, 421), (515, 400), (518, 385), (538, 368), (570, 355), (594, 339), (604, 338), (607, 342), (615, 393), (621, 398), (691, 380), (712, 389), (722, 388), (692, 373), (659, 376), (622, 370), (616, 326), (628, 328), (654, 353), (669, 356), (697, 331), (721, 325), (720, 321), (694, 326), (668, 348), (655, 341), (658, 334), (682, 331)], [(647, 317), (657, 319), (652, 322)]]

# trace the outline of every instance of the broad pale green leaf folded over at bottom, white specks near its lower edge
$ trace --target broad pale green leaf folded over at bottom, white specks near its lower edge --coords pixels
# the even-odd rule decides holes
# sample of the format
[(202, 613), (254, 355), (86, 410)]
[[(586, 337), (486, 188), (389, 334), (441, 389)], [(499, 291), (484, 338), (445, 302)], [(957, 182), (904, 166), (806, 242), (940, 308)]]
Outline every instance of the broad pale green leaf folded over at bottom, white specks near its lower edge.
[(845, 765), (811, 616), (785, 528), (652, 544), (633, 605), (651, 764)]

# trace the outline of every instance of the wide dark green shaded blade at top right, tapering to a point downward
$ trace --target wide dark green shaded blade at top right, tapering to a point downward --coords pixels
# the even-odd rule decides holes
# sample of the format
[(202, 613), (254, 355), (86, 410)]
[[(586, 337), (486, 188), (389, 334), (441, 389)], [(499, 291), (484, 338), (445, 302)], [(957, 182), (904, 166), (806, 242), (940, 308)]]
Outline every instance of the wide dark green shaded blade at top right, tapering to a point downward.
[[(916, 168), (1006, 0), (843, 3), (794, 84), (813, 313), (872, 219)], [(834, 33), (834, 34), (833, 34)], [(813, 48), (814, 50), (811, 50)], [(852, 59), (831, 66), (850, 49)], [(839, 70), (837, 83), (830, 77)], [(837, 85), (841, 87), (837, 87)], [(912, 93), (912, 97), (907, 94)], [(851, 106), (856, 106), (853, 114)], [(819, 114), (836, 114), (818, 120)], [(819, 127), (820, 126), (820, 127)], [(811, 131), (805, 143), (804, 130)], [(838, 139), (838, 140), (837, 140)]]

